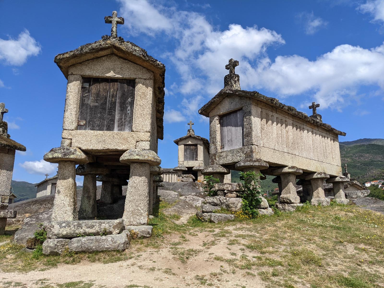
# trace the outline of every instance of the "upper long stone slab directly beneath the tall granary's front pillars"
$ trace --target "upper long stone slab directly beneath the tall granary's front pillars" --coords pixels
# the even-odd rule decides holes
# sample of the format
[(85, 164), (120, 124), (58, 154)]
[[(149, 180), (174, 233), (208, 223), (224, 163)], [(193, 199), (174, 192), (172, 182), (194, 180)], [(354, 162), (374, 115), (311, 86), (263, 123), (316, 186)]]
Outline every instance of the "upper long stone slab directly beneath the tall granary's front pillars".
[(45, 225), (48, 238), (74, 238), (78, 235), (119, 234), (124, 225), (118, 220), (54, 221)]

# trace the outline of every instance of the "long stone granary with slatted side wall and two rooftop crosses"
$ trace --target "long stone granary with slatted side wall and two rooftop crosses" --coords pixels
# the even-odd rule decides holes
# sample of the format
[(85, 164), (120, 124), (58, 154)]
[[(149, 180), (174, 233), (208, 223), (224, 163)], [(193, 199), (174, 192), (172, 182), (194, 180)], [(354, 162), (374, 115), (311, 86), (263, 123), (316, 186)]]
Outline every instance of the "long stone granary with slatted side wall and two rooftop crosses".
[[(199, 113), (210, 118), (210, 166), (203, 174), (223, 175), (230, 169), (276, 175), (280, 209), (295, 209), (300, 202), (328, 205), (323, 182), (333, 183), (335, 200), (345, 202), (339, 139), (345, 132), (322, 122), (312, 103), (313, 115), (240, 88), (235, 74), (238, 61), (229, 60), (224, 88)], [(296, 179), (303, 184), (303, 199), (296, 194)]]

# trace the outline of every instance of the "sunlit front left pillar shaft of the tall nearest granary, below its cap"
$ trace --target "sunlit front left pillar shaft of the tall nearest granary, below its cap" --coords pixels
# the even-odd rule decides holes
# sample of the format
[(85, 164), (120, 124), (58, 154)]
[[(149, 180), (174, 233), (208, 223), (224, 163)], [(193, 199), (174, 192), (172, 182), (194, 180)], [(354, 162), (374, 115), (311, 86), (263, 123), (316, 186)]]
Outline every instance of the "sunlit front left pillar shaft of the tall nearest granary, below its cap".
[(78, 220), (76, 199), (76, 164), (59, 161), (58, 180), (52, 208), (52, 221)]

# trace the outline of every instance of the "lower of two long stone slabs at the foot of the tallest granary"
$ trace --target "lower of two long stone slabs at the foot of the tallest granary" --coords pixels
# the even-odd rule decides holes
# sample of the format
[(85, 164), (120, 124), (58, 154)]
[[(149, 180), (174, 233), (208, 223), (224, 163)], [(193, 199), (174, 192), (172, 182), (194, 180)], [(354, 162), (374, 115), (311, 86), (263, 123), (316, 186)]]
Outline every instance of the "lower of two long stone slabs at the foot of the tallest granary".
[(88, 236), (69, 239), (47, 239), (43, 243), (43, 254), (60, 255), (68, 252), (124, 251), (129, 247), (130, 235), (122, 232), (118, 235)]

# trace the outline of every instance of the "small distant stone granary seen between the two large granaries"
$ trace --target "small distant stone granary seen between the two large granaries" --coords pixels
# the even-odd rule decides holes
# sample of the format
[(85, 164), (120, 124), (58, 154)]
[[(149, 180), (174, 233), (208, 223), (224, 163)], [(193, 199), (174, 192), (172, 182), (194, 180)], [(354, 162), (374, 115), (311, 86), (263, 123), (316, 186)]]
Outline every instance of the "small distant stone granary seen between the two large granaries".
[(194, 180), (203, 181), (204, 175), (201, 174), (201, 170), (209, 166), (209, 141), (195, 135), (192, 121), (187, 124), (189, 125), (187, 135), (173, 141), (179, 148), (178, 166), (173, 170), (180, 171), (180, 174), (193, 175)]

